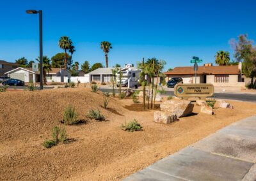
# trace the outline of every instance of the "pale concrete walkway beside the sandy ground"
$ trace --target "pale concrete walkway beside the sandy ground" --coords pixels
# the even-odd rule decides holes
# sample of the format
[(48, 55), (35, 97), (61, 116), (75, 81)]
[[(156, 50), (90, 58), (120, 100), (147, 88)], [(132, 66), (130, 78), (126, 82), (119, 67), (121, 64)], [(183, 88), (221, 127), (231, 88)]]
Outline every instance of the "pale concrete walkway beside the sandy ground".
[(256, 116), (253, 116), (224, 127), (125, 180), (255, 181), (255, 163)]

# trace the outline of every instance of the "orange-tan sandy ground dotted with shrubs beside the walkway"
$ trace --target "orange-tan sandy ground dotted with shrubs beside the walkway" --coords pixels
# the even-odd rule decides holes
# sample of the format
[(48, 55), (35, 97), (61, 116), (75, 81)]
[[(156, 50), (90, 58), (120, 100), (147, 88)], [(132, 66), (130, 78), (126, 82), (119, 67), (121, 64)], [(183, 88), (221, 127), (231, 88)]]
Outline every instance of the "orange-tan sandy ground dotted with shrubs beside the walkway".
[[(111, 98), (105, 110), (101, 93), (82, 87), (0, 92), (0, 98), (0, 180), (120, 180), (256, 110), (256, 104), (230, 101), (234, 110), (215, 109), (211, 116), (195, 106), (193, 115), (164, 125), (154, 123), (154, 112), (131, 99)], [(42, 147), (52, 127), (63, 126), (69, 104), (76, 106), (79, 119), (99, 108), (108, 120), (65, 126), (74, 141)], [(143, 131), (120, 129), (133, 119)]]

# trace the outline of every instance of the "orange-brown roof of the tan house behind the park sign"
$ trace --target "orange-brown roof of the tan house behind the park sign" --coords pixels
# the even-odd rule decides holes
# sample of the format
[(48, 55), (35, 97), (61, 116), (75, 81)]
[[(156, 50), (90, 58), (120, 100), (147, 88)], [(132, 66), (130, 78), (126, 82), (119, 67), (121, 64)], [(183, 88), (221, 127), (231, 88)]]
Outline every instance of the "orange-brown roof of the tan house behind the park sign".
[[(198, 66), (197, 74), (205, 75), (220, 75), (231, 74), (236, 75), (240, 73), (238, 66)], [(195, 74), (194, 67), (176, 67), (172, 71), (167, 71), (165, 75), (193, 75)]]

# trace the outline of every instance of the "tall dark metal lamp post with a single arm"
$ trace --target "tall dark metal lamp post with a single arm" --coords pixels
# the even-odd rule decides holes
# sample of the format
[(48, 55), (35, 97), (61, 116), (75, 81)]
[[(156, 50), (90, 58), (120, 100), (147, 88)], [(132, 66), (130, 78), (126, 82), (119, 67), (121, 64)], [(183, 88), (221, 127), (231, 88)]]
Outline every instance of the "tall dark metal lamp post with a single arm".
[(39, 13), (39, 47), (40, 47), (40, 89), (44, 89), (43, 85), (43, 12), (42, 10), (26, 10), (28, 14)]

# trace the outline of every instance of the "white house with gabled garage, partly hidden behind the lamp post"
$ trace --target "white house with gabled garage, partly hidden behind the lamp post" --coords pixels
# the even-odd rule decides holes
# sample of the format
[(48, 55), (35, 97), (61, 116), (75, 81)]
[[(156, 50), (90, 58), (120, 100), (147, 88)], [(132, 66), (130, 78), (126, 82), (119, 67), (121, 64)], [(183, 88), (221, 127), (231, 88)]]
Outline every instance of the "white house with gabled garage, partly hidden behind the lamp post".
[[(10, 78), (16, 78), (24, 82), (39, 82), (39, 71), (33, 71), (32, 68), (15, 68), (4, 73)], [(47, 82), (68, 82), (71, 73), (67, 69), (51, 68), (49, 73), (46, 73)]]

